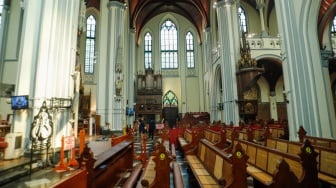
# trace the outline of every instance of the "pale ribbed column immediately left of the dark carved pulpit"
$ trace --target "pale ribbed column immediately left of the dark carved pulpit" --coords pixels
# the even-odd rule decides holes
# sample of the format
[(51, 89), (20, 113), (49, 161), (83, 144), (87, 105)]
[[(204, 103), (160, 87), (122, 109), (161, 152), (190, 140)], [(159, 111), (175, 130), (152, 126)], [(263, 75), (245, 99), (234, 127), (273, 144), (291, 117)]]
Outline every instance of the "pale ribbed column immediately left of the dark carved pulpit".
[(237, 5), (234, 0), (218, 1), (217, 4), (220, 63), (223, 86), (223, 117), (225, 123), (238, 125), (239, 114), (236, 63), (239, 57), (239, 27)]

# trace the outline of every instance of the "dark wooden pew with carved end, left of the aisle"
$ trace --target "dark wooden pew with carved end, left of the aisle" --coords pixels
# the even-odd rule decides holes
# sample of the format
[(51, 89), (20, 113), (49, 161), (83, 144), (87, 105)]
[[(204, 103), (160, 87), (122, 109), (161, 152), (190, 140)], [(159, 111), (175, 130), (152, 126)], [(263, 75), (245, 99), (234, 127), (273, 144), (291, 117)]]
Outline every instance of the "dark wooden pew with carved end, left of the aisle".
[(93, 155), (89, 147), (84, 148), (79, 160), (80, 167), (88, 172), (88, 188), (104, 188), (117, 184), (120, 174), (133, 169), (133, 141), (123, 141), (110, 149)]

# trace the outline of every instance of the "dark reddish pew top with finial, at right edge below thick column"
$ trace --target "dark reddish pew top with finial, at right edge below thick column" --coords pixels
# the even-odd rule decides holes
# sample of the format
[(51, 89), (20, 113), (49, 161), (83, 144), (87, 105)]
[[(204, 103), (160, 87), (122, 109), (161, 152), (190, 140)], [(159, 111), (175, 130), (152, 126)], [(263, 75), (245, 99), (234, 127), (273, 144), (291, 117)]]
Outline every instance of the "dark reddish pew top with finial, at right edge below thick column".
[(302, 125), (300, 126), (297, 133), (299, 135), (300, 142), (303, 142), (305, 139), (308, 139), (313, 145), (336, 149), (336, 139), (308, 136), (306, 130), (303, 128)]

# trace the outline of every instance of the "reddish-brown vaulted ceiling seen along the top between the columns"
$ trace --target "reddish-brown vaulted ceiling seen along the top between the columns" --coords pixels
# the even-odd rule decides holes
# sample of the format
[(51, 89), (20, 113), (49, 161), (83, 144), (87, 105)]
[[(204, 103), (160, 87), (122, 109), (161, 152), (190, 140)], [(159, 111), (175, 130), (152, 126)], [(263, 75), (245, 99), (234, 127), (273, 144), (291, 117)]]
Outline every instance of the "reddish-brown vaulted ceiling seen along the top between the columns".
[[(125, 2), (125, 0), (114, 0)], [(218, 0), (221, 1), (221, 0)], [(256, 0), (241, 0), (251, 7), (256, 7)], [(265, 22), (269, 24), (269, 17), (274, 9), (274, 0), (265, 1)], [(99, 9), (100, 0), (86, 0), (87, 6)], [(130, 13), (130, 27), (140, 33), (143, 26), (153, 17), (166, 12), (173, 12), (188, 19), (202, 37), (202, 28), (210, 26), (210, 0), (128, 0)], [(330, 23), (336, 14), (335, 0), (322, 0), (319, 17), (318, 30), (320, 42), (323, 30)], [(138, 37), (137, 37), (138, 38)]]

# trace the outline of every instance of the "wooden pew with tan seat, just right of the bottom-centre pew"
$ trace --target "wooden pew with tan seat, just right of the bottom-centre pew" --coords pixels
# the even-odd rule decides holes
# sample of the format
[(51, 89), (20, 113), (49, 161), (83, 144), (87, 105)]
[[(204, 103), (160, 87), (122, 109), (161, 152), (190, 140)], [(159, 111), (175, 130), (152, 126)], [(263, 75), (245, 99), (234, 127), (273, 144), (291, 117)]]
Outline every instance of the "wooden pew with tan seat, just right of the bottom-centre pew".
[(228, 154), (206, 139), (199, 141), (197, 155), (186, 156), (201, 187), (247, 187), (247, 158), (240, 144)]

